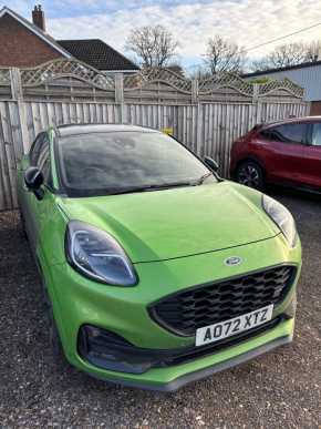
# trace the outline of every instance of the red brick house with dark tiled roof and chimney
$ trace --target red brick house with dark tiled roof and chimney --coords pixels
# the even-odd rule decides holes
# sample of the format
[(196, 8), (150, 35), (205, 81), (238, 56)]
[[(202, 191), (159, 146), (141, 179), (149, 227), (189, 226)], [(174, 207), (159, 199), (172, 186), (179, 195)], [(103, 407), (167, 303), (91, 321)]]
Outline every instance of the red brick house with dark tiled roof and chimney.
[(32, 22), (13, 10), (0, 10), (0, 67), (37, 67), (55, 59), (79, 59), (103, 72), (133, 73), (138, 67), (99, 39), (55, 40), (45, 31), (41, 6)]

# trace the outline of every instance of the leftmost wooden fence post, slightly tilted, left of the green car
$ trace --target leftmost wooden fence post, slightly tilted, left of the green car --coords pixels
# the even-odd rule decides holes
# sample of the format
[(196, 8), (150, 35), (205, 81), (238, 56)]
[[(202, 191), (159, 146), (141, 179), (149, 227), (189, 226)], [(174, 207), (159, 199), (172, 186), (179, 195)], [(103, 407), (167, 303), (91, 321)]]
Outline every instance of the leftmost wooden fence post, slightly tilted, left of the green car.
[[(18, 108), (18, 119), (20, 123), (21, 137), (22, 137), (22, 151), (23, 154), (28, 152), (30, 147), (29, 142), (29, 132), (28, 132), (28, 123), (27, 123), (27, 111), (25, 104), (23, 102), (23, 90), (21, 83), (21, 74), (20, 70), (17, 68), (10, 69), (10, 79), (11, 79), (11, 93), (13, 101), (17, 102)], [(14, 142), (15, 144), (18, 142)], [(17, 151), (18, 147), (14, 147), (15, 157), (20, 153), (20, 150)]]

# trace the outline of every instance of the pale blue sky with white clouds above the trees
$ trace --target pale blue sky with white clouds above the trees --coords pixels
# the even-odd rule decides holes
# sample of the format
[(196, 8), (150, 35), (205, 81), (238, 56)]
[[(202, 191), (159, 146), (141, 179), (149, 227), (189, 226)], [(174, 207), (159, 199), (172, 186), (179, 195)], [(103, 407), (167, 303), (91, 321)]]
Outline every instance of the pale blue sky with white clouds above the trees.
[[(1, 0), (0, 0), (1, 1)], [(27, 19), (35, 1), (8, 0)], [(190, 71), (203, 62), (207, 40), (219, 34), (244, 48), (321, 23), (321, 1), (315, 0), (46, 0), (48, 32), (55, 39), (99, 38), (123, 53), (131, 29), (163, 24), (179, 41), (177, 60)], [(321, 25), (284, 42), (321, 40)], [(278, 42), (280, 43), (280, 42)], [(260, 58), (277, 44), (250, 51)]]

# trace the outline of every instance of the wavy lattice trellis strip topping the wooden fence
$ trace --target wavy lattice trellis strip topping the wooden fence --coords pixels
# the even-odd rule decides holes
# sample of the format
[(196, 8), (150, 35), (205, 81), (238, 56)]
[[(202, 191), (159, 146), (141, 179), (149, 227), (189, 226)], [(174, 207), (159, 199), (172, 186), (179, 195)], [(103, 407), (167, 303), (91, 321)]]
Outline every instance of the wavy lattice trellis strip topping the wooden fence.
[(103, 73), (77, 60), (58, 59), (35, 68), (0, 69), (0, 99), (128, 104), (298, 102), (303, 89), (288, 79), (265, 84), (234, 73), (188, 79), (164, 68), (134, 74)]

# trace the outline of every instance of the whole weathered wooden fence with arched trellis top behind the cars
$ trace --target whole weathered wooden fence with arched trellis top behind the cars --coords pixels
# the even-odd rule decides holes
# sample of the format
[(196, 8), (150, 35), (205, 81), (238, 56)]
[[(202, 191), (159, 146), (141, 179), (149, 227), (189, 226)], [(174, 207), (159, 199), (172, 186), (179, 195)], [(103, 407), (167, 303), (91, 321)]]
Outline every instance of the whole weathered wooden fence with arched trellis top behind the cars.
[(17, 206), (15, 164), (35, 135), (65, 123), (128, 123), (174, 135), (228, 174), (231, 142), (256, 123), (308, 113), (289, 80), (256, 85), (234, 74), (188, 80), (154, 69), (106, 75), (79, 61), (0, 69), (0, 210)]

